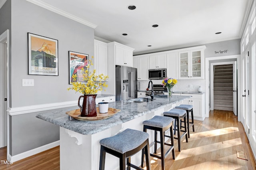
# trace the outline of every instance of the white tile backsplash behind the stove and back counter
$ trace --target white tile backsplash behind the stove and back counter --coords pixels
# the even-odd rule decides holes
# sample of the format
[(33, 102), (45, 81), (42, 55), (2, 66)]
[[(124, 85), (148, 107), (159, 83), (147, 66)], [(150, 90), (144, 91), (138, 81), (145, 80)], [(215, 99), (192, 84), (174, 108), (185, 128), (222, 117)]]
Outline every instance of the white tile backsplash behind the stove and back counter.
[[(138, 90), (146, 90), (149, 81), (138, 81)], [(153, 84), (162, 84), (162, 80), (152, 80)], [(178, 80), (178, 83), (173, 87), (173, 91), (192, 91), (197, 92), (198, 87), (202, 87), (202, 92), (205, 92), (205, 80)], [(151, 85), (150, 85), (151, 89)]]

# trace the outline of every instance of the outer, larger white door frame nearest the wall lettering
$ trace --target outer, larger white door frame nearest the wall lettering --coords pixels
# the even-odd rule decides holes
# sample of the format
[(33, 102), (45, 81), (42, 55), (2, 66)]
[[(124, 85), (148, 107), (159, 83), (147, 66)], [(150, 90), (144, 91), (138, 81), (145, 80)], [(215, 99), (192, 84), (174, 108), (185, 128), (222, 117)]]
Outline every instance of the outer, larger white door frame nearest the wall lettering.
[[(222, 59), (236, 59), (240, 61), (240, 54), (238, 55), (226, 55), (226, 56), (217, 56), (217, 57), (206, 57), (205, 58), (205, 115), (209, 117), (210, 112), (210, 61), (222, 60)], [(240, 62), (237, 62), (237, 82), (240, 82), (241, 73), (240, 73)], [(240, 85), (238, 86), (238, 94), (241, 94)], [(237, 102), (240, 103), (240, 98), (238, 97)], [(241, 120), (241, 111), (240, 106), (237, 108), (238, 121)]]

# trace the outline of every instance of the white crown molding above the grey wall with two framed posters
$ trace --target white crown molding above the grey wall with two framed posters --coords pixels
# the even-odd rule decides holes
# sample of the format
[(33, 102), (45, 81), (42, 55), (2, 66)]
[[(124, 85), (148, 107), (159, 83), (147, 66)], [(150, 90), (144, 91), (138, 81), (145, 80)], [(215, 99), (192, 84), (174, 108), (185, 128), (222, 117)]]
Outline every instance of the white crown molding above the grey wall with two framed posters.
[(92, 24), (92, 23), (90, 23), (90, 22), (88, 22), (86, 20), (83, 20), (82, 18), (78, 18), (78, 17), (76, 17), (76, 16), (74, 16), (72, 14), (69, 14), (68, 12), (60, 10), (60, 9), (58, 9), (58, 8), (56, 8), (54, 6), (51, 6), (49, 4), (46, 4), (46, 3), (44, 3), (44, 2), (42, 2), (40, 0), (26, 0), (26, 1), (31, 2), (33, 4), (36, 4), (36, 5), (38, 5), (38, 6), (42, 7), (42, 8), (50, 10), (52, 12), (55, 12), (56, 14), (60, 14), (60, 15), (62, 15), (64, 17), (66, 17), (66, 18), (70, 18), (71, 20), (74, 20), (76, 22), (80, 22), (81, 24), (84, 24), (84, 25), (89, 26), (91, 28), (96, 28), (97, 27), (95, 24)]

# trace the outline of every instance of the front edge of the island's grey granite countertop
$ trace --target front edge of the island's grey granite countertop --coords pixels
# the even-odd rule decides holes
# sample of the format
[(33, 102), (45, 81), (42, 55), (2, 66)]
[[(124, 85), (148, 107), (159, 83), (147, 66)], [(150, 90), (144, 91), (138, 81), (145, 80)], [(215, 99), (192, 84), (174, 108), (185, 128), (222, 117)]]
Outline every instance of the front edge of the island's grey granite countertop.
[[(61, 123), (61, 122), (59, 122), (59, 121), (56, 121), (56, 120), (53, 120), (53, 119), (51, 119), (51, 118), (49, 118), (49, 117), (42, 117), (41, 115), (36, 115), (36, 117), (37, 117), (38, 119), (42, 119), (43, 121), (47, 121), (47, 122), (52, 123), (52, 124), (54, 124), (54, 125), (58, 125), (58, 126), (60, 126), (60, 127), (66, 128), (66, 129), (68, 129), (68, 130), (72, 130), (72, 131), (74, 131), (74, 132), (77, 132), (77, 133), (80, 133), (80, 134), (84, 134), (84, 135), (90, 135), (90, 134), (96, 134), (96, 133), (98, 133), (98, 132), (102, 132), (102, 131), (107, 130), (108, 128), (114, 127), (114, 126), (116, 126), (116, 125), (120, 125), (120, 124), (122, 124), (122, 123), (126, 123), (126, 122), (128, 122), (128, 121), (131, 121), (131, 120), (136, 119), (136, 118), (138, 118), (138, 117), (141, 117), (141, 116), (143, 116), (143, 115), (147, 115), (148, 113), (152, 113), (153, 111), (157, 111), (157, 110), (162, 109), (162, 108), (164, 108), (164, 107), (173, 105), (173, 104), (175, 104), (175, 103), (178, 103), (178, 102), (180, 102), (180, 101), (182, 101), (182, 100), (184, 100), (184, 99), (190, 98), (190, 97), (192, 97), (192, 96), (183, 96), (183, 97), (184, 97), (183, 99), (176, 99), (176, 101), (172, 101), (172, 102), (170, 102), (170, 103), (164, 104), (164, 105), (162, 105), (162, 106), (160, 106), (160, 107), (156, 107), (156, 108), (154, 108), (154, 109), (150, 109), (150, 110), (148, 110), (148, 111), (139, 111), (139, 112), (138, 112), (138, 115), (136, 115), (135, 117), (130, 117), (129, 119), (125, 119), (125, 120), (123, 120), (123, 121), (118, 121), (118, 122), (110, 123), (110, 124), (108, 124), (108, 126), (102, 126), (102, 128), (98, 128), (97, 130), (94, 129), (94, 131), (92, 131), (92, 130), (90, 130), (90, 131), (79, 131), (79, 130), (74, 131), (74, 129), (71, 129), (71, 128), (69, 128), (69, 127), (66, 127), (65, 125), (63, 125), (63, 123)], [(126, 110), (126, 109), (124, 109), (124, 110)], [(128, 110), (127, 110), (127, 111), (128, 111)], [(82, 130), (82, 129), (81, 129), (81, 130)]]

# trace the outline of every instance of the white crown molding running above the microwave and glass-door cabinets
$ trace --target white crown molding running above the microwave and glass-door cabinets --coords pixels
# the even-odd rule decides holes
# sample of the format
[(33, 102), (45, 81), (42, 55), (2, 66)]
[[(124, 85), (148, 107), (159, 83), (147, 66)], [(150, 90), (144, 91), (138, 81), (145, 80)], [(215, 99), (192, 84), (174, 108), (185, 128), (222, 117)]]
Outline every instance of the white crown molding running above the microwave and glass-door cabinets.
[(235, 40), (235, 39), (240, 39), (240, 38), (241, 37), (238, 36), (238, 37), (224, 38), (224, 39), (219, 39), (219, 40), (214, 40), (214, 41), (205, 41), (205, 42), (202, 41), (202, 42), (195, 42), (195, 43), (189, 43), (189, 44), (184, 44), (184, 45), (175, 45), (175, 46), (170, 46), (170, 47), (165, 47), (165, 48), (152, 49), (152, 50), (147, 50), (147, 51), (138, 51), (138, 52), (134, 52), (133, 56), (148, 54), (148, 53), (162, 52), (162, 51), (169, 51), (169, 50), (181, 49), (181, 48), (187, 48), (187, 47), (195, 47), (195, 46), (205, 45), (207, 43), (223, 42), (223, 41)]

